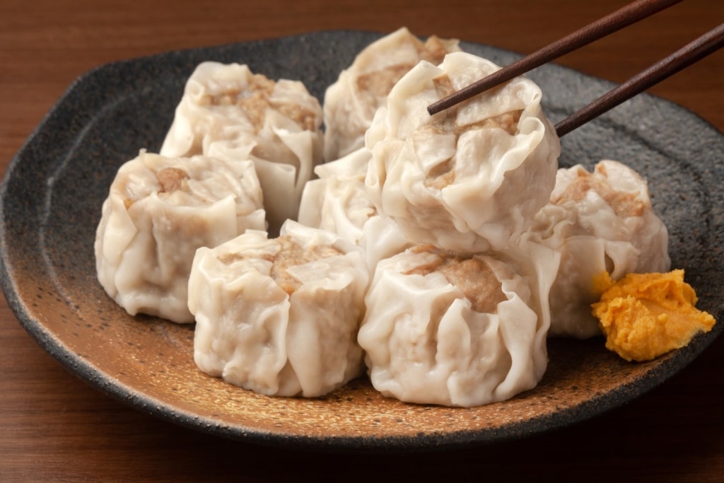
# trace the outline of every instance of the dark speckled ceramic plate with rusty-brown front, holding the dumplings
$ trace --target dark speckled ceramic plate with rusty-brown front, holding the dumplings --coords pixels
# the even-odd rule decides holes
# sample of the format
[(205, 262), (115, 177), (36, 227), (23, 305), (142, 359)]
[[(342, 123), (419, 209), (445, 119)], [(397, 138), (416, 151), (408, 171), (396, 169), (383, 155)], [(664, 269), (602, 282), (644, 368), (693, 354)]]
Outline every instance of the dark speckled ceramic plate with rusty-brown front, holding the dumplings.
[[(382, 398), (360, 379), (327, 397), (266, 398), (196, 369), (193, 327), (130, 317), (96, 281), (93, 239), (120, 164), (157, 151), (199, 62), (241, 62), (302, 80), (320, 99), (356, 52), (379, 35), (326, 32), (178, 51), (100, 67), (74, 83), (12, 160), (1, 191), (2, 287), (20, 323), (77, 377), (168, 421), (238, 440), (316, 449), (421, 450), (495, 442), (608, 411), (689, 364), (721, 332), (646, 364), (601, 339), (550, 341), (534, 390), (481, 408), (416, 406)], [(508, 64), (515, 55), (463, 48)], [(531, 72), (557, 121), (611, 88), (554, 65)], [(618, 159), (649, 181), (670, 229), (673, 266), (721, 321), (724, 138), (668, 101), (638, 96), (563, 138), (561, 164)]]

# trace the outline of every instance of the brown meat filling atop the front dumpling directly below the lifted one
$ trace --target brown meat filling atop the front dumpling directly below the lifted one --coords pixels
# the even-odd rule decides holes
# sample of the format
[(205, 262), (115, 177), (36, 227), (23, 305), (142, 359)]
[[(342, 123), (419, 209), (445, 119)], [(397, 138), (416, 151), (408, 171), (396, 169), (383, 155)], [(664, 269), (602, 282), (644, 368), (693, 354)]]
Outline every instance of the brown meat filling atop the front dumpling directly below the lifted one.
[[(421, 247), (416, 251), (429, 251)], [(447, 282), (460, 289), (471, 302), (474, 311), (481, 314), (497, 314), (497, 305), (508, 297), (502, 291), (502, 284), (490, 265), (479, 255), (470, 257), (434, 250), (438, 255), (431, 264), (418, 266), (405, 274), (427, 275), (438, 272)]]

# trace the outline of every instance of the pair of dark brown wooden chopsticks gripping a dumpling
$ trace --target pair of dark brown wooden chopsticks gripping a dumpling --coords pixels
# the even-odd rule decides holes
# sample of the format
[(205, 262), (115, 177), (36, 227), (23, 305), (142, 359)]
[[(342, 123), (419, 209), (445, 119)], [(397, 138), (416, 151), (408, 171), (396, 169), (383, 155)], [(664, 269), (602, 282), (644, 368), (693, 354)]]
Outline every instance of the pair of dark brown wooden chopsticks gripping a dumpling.
[[(466, 88), (460, 89), (452, 93), (450, 96), (440, 99), (427, 108), (429, 114), (437, 114), (448, 107), (459, 104), (462, 101), (476, 96), (477, 94), (494, 88), (496, 85), (505, 83), (518, 75), (529, 70), (533, 70), (546, 62), (550, 62), (557, 57), (568, 54), (582, 46), (586, 46), (599, 38), (605, 37), (610, 33), (620, 30), (639, 20), (651, 16), (663, 9), (678, 4), (682, 0), (636, 0), (631, 4), (622, 7), (605, 17), (586, 25), (584, 28), (576, 30), (576, 32), (551, 43), (548, 46), (535, 51), (529, 56), (523, 57), (513, 64), (504, 67), (481, 80), (468, 85)], [(724, 46), (724, 23), (709, 32), (705, 33), (695, 41), (686, 44), (678, 51), (675, 51), (665, 59), (653, 64), (647, 70), (640, 72), (638, 75), (631, 77), (626, 83), (619, 85), (596, 101), (585, 106), (578, 112), (563, 119), (557, 125), (555, 130), (557, 135), (563, 136), (570, 133), (576, 127), (584, 125), (591, 119), (598, 117), (600, 114), (613, 109), (618, 104), (636, 96), (648, 88), (652, 87), (662, 80), (674, 75), (676, 72), (689, 67), (703, 59), (705, 56)]]

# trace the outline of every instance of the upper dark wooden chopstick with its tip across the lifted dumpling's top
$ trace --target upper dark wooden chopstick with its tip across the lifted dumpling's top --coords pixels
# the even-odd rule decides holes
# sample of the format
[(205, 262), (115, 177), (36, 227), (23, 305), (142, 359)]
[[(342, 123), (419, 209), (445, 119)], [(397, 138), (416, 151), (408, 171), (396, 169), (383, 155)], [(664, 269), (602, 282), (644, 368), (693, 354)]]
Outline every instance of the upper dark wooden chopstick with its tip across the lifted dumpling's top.
[(491, 75), (460, 89), (450, 96), (440, 99), (427, 108), (430, 115), (437, 114), (448, 107), (466, 101), (468, 98), (487, 91), (496, 85), (500, 85), (507, 80), (521, 75), (529, 70), (550, 62), (557, 57), (568, 54), (571, 51), (586, 46), (599, 38), (605, 37), (610, 33), (616, 32), (628, 25), (631, 25), (652, 14), (660, 12), (663, 9), (678, 4), (682, 0), (636, 0), (626, 7), (621, 7), (615, 12), (586, 25), (584, 28), (576, 30), (576, 32), (566, 35), (558, 41), (535, 51), (529, 56), (523, 57), (507, 67), (497, 70)]

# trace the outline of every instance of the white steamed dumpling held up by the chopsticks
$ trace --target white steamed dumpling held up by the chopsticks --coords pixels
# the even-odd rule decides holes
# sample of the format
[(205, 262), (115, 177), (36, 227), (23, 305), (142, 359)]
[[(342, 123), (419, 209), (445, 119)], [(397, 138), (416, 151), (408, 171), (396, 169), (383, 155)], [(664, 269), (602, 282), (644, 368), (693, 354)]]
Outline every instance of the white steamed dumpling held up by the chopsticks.
[(408, 238), (462, 252), (501, 250), (549, 198), (560, 142), (524, 77), (430, 116), (427, 106), (498, 70), (472, 54), (420, 62), (366, 133), (366, 186)]

